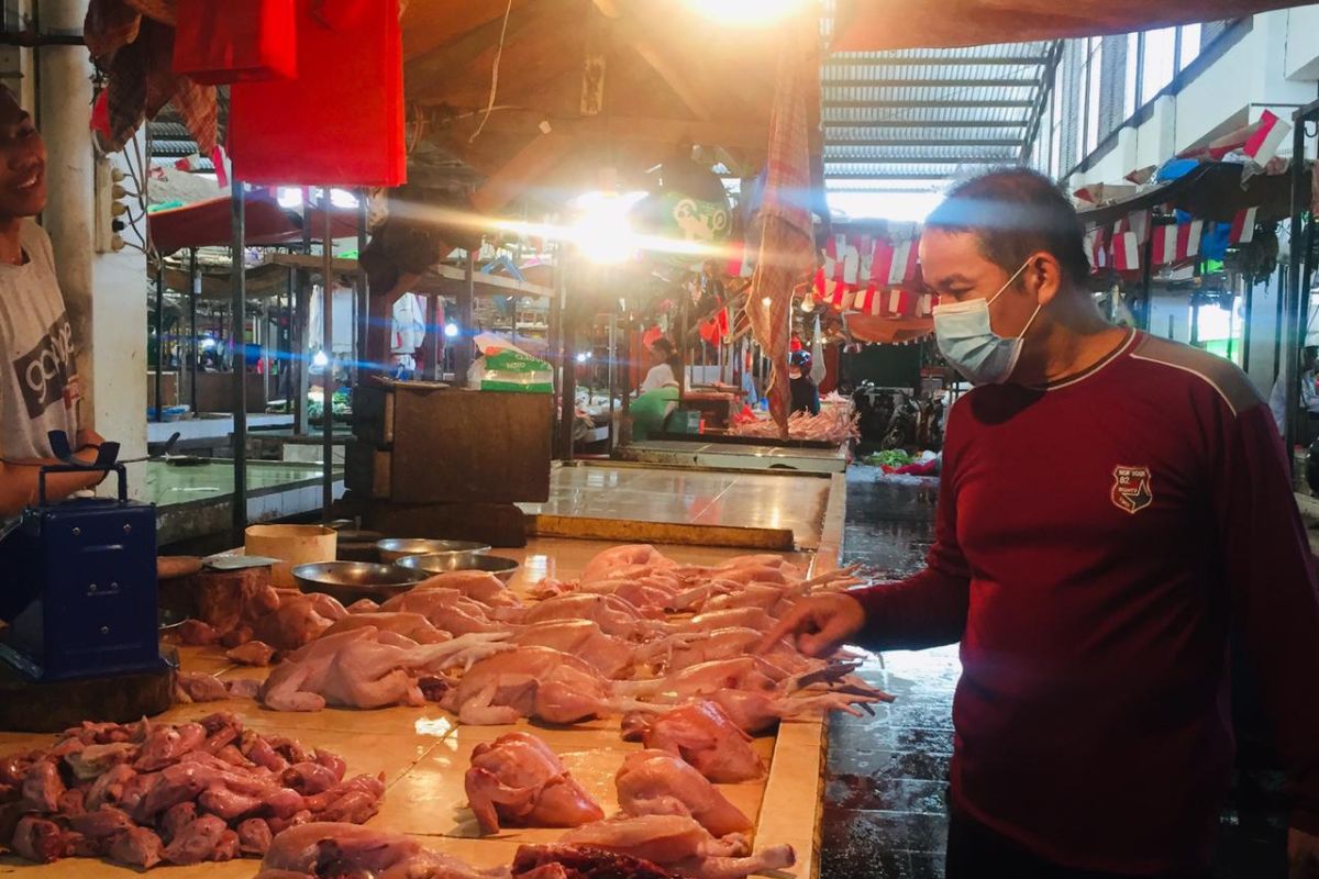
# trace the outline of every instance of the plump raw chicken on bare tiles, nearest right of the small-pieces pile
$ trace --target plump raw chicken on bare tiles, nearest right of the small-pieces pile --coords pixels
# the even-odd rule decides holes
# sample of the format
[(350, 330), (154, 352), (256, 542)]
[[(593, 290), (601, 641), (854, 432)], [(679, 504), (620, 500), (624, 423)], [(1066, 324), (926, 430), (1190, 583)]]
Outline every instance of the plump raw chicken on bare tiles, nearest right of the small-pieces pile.
[(550, 746), (529, 733), (477, 745), (464, 785), (483, 833), (499, 833), (501, 820), (526, 828), (575, 828), (604, 817)]

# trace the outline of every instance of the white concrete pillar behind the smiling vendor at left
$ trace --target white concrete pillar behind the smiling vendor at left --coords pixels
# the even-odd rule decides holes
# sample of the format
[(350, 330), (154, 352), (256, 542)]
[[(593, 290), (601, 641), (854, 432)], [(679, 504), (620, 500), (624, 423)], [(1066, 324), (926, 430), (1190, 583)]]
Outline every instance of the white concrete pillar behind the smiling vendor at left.
[[(86, 14), (87, 0), (42, 0), (41, 29), (79, 33)], [(103, 436), (119, 440), (124, 457), (138, 457), (146, 452), (145, 258), (133, 249), (95, 252), (96, 156), (88, 127), (92, 67), (87, 49), (42, 46), (36, 54), (37, 121), (49, 152), (49, 202), (41, 221), (50, 235), (78, 340), (80, 414)], [(145, 472), (131, 473), (129, 482), (140, 494)]]

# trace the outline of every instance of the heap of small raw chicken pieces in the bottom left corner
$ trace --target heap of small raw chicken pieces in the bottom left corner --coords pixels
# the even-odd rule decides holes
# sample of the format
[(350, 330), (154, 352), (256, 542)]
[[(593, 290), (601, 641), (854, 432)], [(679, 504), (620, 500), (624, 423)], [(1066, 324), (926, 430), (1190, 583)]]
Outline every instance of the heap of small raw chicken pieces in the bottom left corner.
[(227, 713), (83, 723), (49, 749), (0, 756), (0, 843), (40, 863), (108, 858), (142, 870), (260, 857), (288, 828), (376, 814), (384, 779), (344, 779), (346, 768)]

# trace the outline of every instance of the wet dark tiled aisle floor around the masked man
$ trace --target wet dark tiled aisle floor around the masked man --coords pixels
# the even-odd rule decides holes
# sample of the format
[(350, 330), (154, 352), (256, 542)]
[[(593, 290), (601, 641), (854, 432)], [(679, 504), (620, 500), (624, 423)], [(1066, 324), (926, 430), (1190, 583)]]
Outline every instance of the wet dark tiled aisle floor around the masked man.
[[(848, 470), (844, 557), (884, 579), (919, 571), (936, 489)], [(876, 717), (831, 721), (822, 879), (943, 876), (956, 647), (888, 652), (863, 676), (897, 696)], [(1239, 734), (1240, 735), (1240, 734)], [(1248, 739), (1249, 735), (1241, 735)], [(1215, 879), (1283, 879), (1286, 804), (1268, 752), (1244, 747), (1224, 810)]]

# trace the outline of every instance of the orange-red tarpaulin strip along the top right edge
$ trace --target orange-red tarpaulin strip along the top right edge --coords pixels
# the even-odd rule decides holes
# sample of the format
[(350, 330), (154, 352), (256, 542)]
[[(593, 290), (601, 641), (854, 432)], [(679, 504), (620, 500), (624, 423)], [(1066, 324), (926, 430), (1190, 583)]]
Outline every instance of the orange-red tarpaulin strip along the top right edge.
[(842, 0), (834, 51), (946, 49), (1240, 18), (1304, 0)]

